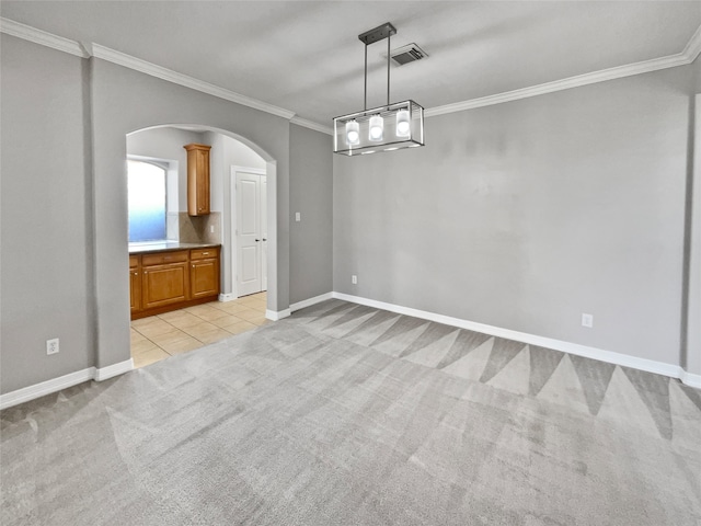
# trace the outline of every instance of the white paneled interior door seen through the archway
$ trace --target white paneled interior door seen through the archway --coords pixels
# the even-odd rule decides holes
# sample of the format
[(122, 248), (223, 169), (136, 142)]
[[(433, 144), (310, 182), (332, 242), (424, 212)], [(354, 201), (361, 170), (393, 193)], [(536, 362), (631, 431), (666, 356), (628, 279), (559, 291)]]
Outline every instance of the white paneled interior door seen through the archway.
[(267, 179), (235, 171), (237, 295), (267, 290)]

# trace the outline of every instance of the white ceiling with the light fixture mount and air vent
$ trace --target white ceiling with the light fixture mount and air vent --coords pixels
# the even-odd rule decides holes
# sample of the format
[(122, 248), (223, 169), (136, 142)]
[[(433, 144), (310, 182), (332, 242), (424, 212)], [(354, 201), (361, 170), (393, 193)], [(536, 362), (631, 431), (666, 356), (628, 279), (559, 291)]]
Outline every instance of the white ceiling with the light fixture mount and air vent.
[[(329, 126), (363, 107), (364, 44), (384, 22), (392, 101), (430, 108), (679, 54), (700, 1), (8, 1), (0, 15), (290, 110)], [(387, 42), (368, 47), (368, 105), (386, 102)]]

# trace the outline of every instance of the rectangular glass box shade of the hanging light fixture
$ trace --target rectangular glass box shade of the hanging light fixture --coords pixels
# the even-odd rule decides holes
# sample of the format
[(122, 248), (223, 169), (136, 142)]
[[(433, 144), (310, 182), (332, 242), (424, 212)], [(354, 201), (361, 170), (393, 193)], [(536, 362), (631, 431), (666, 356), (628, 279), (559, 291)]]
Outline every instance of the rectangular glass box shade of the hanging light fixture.
[[(370, 136), (376, 125), (380, 130), (379, 139)], [(334, 153), (356, 156), (424, 146), (424, 108), (414, 101), (336, 117), (333, 127)], [(352, 130), (358, 133), (355, 144), (350, 141), (355, 137), (352, 137)]]

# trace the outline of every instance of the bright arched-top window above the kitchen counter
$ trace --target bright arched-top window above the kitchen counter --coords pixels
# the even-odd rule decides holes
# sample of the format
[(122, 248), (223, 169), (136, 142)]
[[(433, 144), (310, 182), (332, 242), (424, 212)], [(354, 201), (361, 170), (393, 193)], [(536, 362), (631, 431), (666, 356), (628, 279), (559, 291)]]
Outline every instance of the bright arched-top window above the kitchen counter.
[(153, 162), (127, 161), (129, 242), (164, 241), (168, 170)]

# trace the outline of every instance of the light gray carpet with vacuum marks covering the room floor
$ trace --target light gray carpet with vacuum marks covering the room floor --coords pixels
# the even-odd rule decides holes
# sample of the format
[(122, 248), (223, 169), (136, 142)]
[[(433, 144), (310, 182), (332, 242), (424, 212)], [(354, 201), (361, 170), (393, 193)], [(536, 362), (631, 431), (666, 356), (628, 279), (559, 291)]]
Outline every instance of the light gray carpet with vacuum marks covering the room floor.
[(1, 414), (10, 525), (699, 525), (701, 396), (338, 300)]

